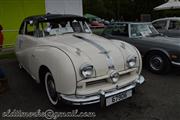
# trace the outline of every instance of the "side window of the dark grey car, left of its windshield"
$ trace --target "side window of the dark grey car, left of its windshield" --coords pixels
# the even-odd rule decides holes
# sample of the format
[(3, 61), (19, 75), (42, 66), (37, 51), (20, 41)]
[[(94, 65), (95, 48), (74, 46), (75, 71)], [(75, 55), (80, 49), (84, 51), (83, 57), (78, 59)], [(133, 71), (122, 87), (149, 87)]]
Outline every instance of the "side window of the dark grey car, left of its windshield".
[(112, 35), (128, 37), (128, 25), (118, 24), (117, 26), (113, 28)]

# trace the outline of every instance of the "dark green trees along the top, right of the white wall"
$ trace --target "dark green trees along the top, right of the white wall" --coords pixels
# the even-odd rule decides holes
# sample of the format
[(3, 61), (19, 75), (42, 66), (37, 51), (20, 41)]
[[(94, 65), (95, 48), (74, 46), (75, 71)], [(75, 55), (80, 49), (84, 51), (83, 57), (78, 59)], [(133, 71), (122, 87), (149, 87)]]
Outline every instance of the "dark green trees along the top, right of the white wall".
[(84, 13), (101, 18), (133, 21), (141, 14), (152, 14), (153, 8), (165, 3), (165, 0), (83, 0)]

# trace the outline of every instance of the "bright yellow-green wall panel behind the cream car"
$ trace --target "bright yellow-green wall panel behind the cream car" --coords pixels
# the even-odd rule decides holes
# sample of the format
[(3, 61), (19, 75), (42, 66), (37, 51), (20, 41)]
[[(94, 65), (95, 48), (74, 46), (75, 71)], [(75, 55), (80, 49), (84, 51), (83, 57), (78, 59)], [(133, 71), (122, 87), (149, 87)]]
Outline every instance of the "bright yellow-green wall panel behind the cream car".
[(0, 0), (4, 45), (15, 44), (20, 24), (25, 17), (44, 13), (45, 0)]

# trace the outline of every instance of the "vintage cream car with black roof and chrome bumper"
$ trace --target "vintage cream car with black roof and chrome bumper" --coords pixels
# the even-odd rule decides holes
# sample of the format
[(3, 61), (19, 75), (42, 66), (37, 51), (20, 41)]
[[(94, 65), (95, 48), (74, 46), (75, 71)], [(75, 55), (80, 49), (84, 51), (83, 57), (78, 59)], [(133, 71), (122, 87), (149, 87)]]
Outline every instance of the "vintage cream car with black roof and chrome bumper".
[(53, 105), (101, 103), (109, 106), (132, 96), (141, 55), (132, 45), (92, 34), (84, 17), (46, 14), (25, 18), (16, 55)]

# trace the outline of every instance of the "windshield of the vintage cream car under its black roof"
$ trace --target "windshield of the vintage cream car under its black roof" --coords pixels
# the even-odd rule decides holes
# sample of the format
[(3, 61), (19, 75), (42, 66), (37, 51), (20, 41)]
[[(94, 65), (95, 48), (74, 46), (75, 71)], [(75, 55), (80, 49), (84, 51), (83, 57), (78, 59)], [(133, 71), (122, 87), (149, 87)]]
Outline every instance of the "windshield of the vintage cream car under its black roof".
[(51, 20), (38, 23), (39, 37), (62, 35), (67, 33), (91, 33), (83, 20)]

